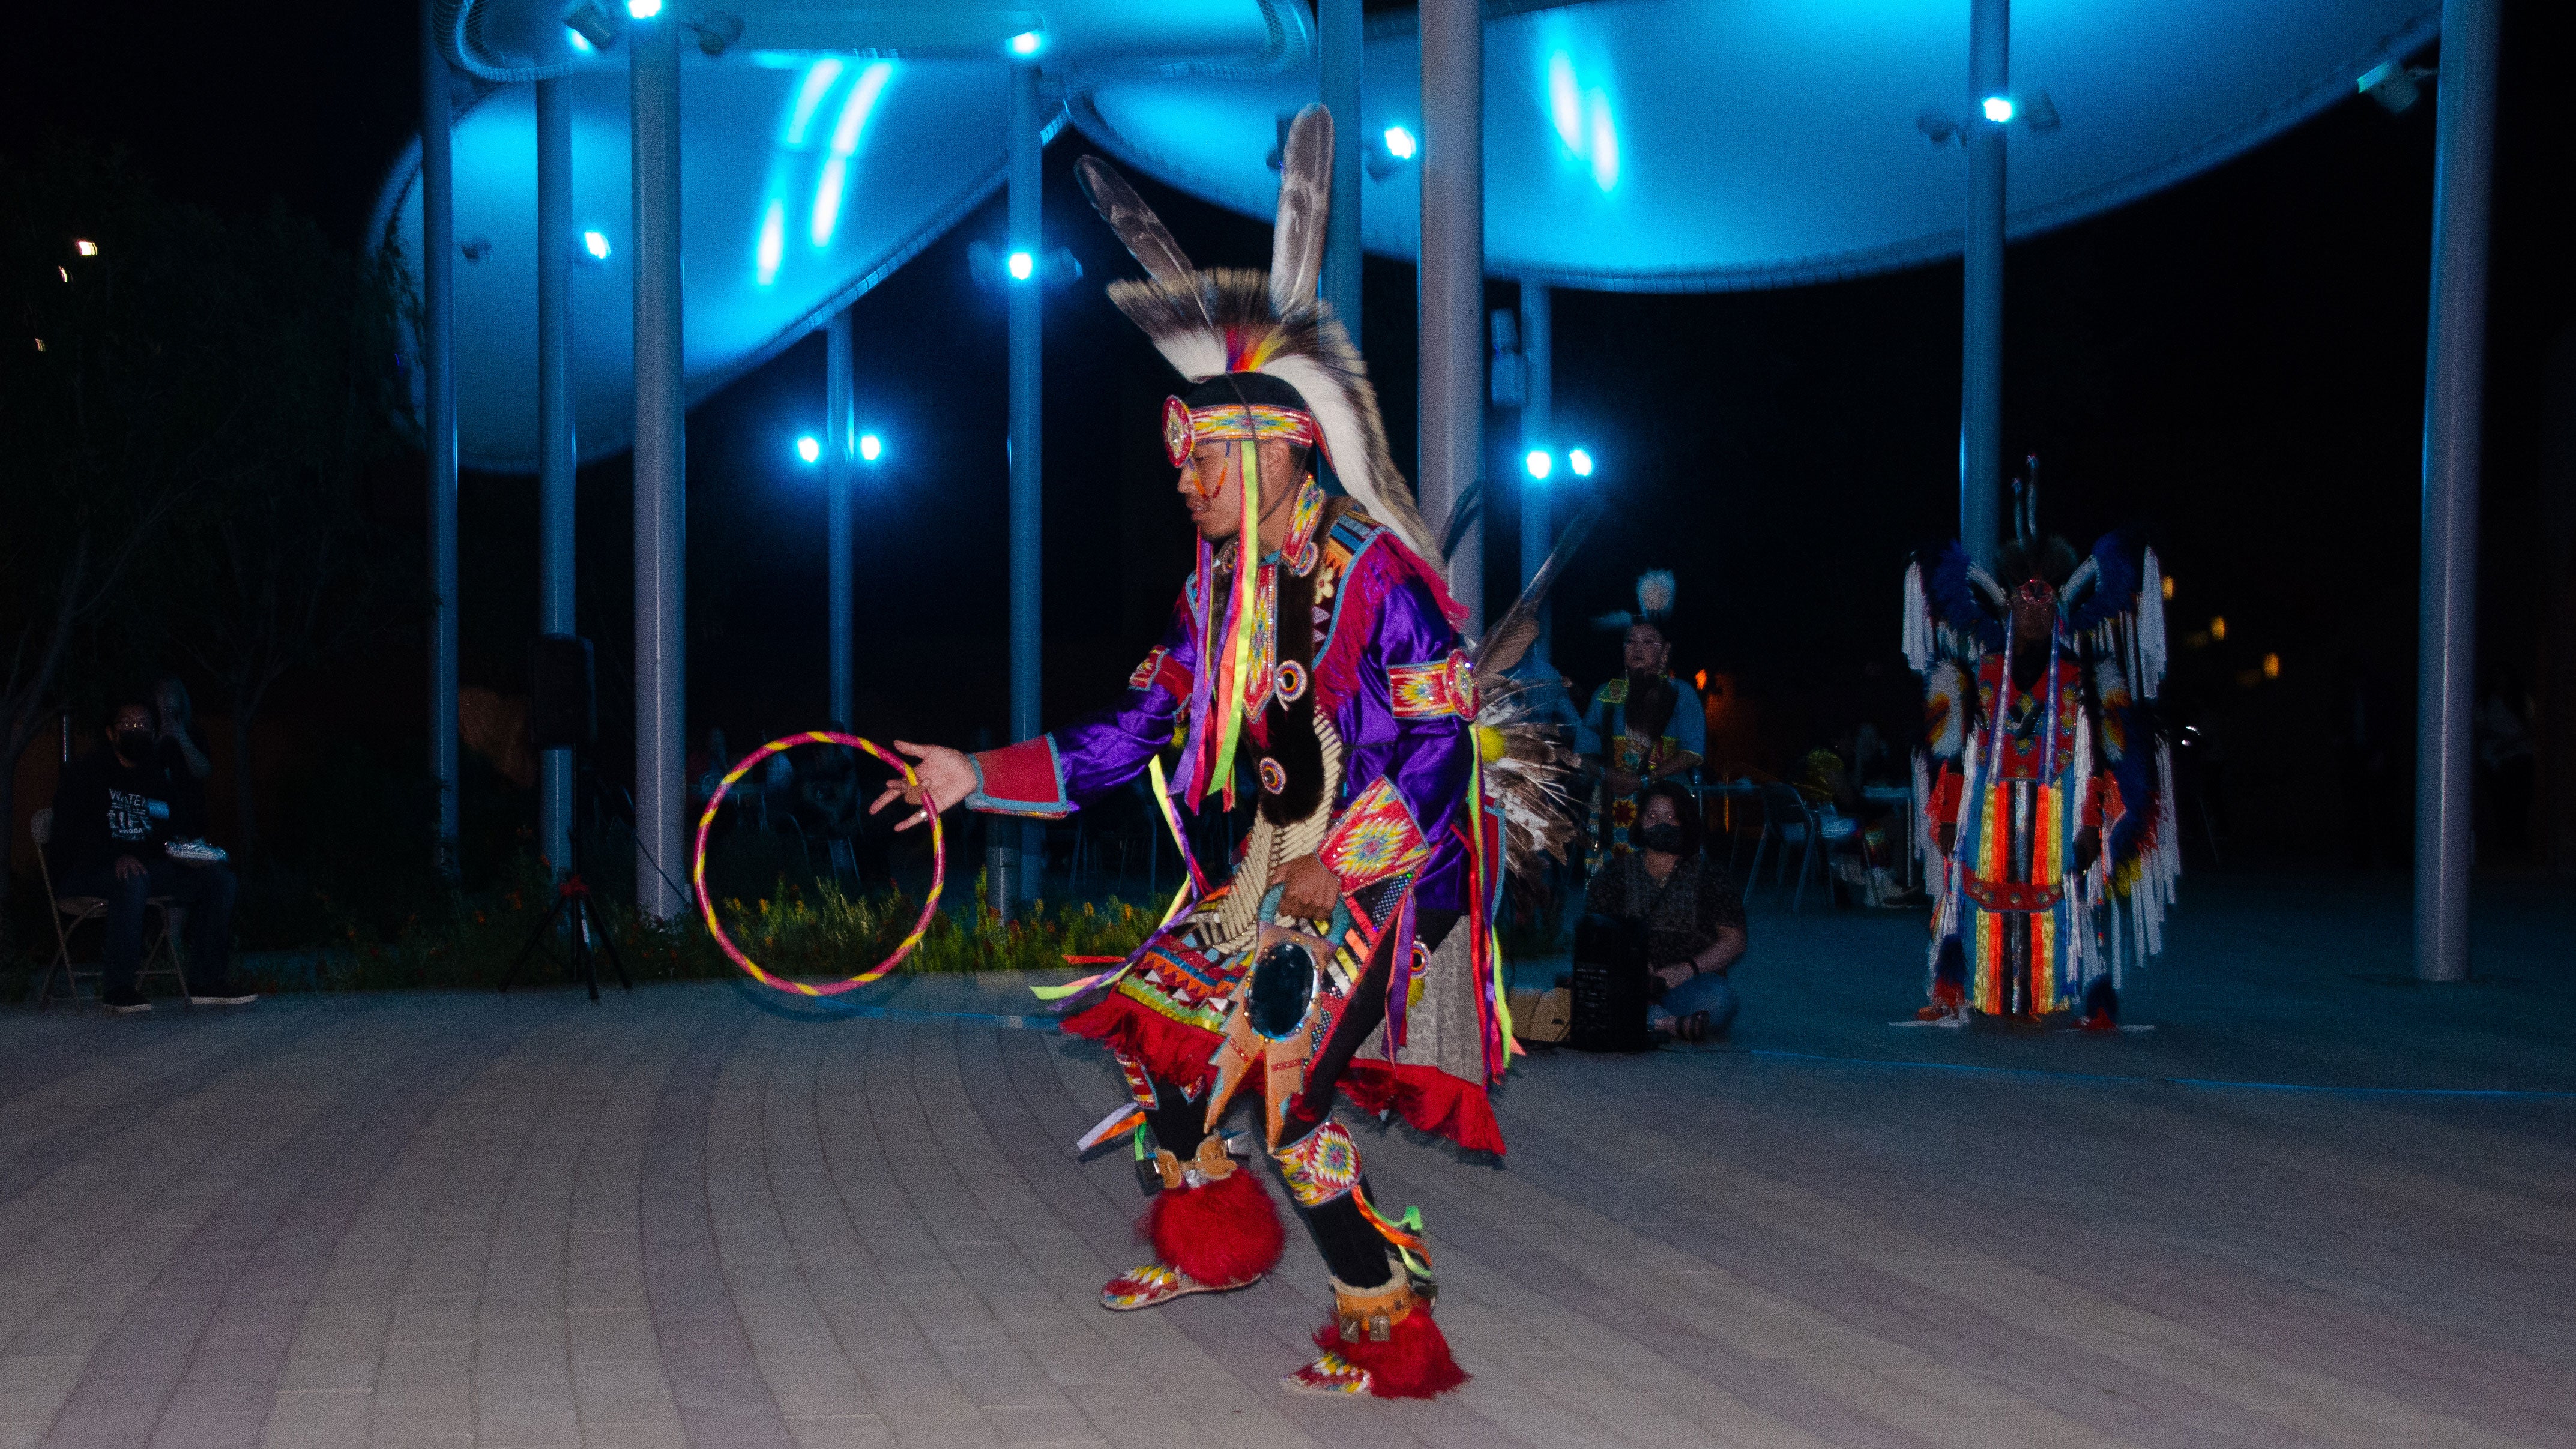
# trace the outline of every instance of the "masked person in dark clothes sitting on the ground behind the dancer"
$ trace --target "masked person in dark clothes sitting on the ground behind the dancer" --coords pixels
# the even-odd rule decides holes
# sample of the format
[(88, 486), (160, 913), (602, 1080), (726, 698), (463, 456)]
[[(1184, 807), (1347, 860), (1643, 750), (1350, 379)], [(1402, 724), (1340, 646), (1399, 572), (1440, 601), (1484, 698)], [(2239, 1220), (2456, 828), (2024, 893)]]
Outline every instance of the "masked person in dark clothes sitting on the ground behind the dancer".
[(1646, 934), (1646, 1022), (1659, 1035), (1703, 1042), (1736, 1019), (1726, 970), (1744, 957), (1744, 898), (1726, 867), (1700, 854), (1700, 808), (1690, 790), (1654, 780), (1638, 793), (1638, 849), (1602, 862), (1584, 911)]

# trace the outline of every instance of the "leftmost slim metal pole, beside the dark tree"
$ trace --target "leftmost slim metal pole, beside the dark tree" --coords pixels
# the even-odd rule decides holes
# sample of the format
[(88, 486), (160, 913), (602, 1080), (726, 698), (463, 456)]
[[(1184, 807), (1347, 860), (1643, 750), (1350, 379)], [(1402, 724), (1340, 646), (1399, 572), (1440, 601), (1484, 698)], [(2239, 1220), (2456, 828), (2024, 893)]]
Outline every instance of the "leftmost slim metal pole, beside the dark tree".
[(420, 435), (430, 466), (430, 775), (456, 872), (456, 165), (438, 0), (420, 0)]

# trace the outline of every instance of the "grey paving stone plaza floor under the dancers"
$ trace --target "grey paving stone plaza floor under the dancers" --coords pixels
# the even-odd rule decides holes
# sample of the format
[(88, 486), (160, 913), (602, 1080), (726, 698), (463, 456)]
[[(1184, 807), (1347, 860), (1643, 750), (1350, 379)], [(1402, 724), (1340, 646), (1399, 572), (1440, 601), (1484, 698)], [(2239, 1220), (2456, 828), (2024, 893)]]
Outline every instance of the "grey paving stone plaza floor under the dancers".
[[(1473, 1382), (1293, 1398), (1324, 1271), (1141, 1261), (1025, 981), (0, 1011), (0, 1446), (2566, 1446), (2568, 901), (2184, 883), (2120, 1037), (1932, 1032), (1922, 921), (1757, 903), (1728, 1042), (1368, 1135)], [(1548, 973), (1530, 963), (1525, 975)]]

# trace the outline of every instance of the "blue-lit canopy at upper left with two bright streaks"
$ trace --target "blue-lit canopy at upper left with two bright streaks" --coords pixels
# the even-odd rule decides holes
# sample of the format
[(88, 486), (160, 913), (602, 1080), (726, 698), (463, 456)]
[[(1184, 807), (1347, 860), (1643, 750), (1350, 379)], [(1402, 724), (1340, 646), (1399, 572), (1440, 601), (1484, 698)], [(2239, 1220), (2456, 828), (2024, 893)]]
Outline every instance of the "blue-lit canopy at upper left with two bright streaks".
[[(696, 5), (667, 0), (683, 21)], [(1007, 59), (1036, 33), (1048, 80), (1247, 77), (1306, 59), (1301, 0), (721, 0), (742, 36), (708, 59), (683, 33), (680, 234), (690, 401), (775, 355), (876, 286), (1002, 183)], [(600, 0), (623, 18), (623, 0)], [(456, 121), (456, 401), (469, 466), (536, 466), (536, 100), (572, 95), (572, 389), (582, 458), (634, 435), (626, 46), (582, 49), (564, 0), (461, 0), (448, 59), (479, 85)], [(1030, 41), (1023, 41), (1030, 44)], [(384, 183), (379, 224), (420, 252), (417, 147)]]

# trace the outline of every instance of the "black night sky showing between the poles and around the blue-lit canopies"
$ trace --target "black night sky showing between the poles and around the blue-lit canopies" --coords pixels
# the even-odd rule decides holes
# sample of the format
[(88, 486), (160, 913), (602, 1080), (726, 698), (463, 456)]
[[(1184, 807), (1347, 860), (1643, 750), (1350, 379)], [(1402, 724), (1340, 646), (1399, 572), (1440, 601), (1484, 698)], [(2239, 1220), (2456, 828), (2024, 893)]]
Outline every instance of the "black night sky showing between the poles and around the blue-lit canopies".
[[(286, 0), (21, 15), (0, 136), (118, 142), (173, 193), (270, 198), (355, 242), (412, 126), (410, 5)], [(2530, 672), (2540, 558), (2540, 360), (2576, 311), (2555, 221), (2576, 214), (2571, 118), (2550, 88), (2568, 21), (2506, 3), (2491, 306), (2481, 654)], [(2429, 62), (2432, 57), (2419, 57)], [(2110, 216), (2009, 252), (2007, 440), (2043, 461), (2043, 522), (2079, 546), (2143, 528), (2179, 579), (2177, 636), (2228, 641), (2177, 664), (2177, 705), (2231, 739), (2239, 775), (2313, 759), (2339, 661), (2411, 685), (2416, 489), (2434, 108), (2344, 100), (2298, 131)], [(1131, 263), (1072, 185), (1082, 139), (1048, 152), (1046, 226), (1084, 281), (1046, 322), (1048, 715), (1105, 697), (1144, 651), (1185, 566), (1154, 409), (1162, 363), (1100, 283)], [(1203, 263), (1249, 263), (1262, 224), (1146, 188)], [(863, 476), (860, 633), (868, 734), (999, 726), (1002, 309), (963, 247), (999, 201), (860, 299), (863, 422), (894, 456)], [(1510, 306), (1497, 283), (1492, 301)], [(1899, 723), (1904, 551), (1955, 525), (1955, 265), (1783, 293), (1558, 299), (1558, 430), (1592, 440), (1610, 517), (1564, 595), (1558, 661), (1587, 687), (1610, 646), (1579, 625), (1643, 566), (1682, 574), (1680, 664), (1723, 672), (1777, 762), (1860, 713)], [(1370, 260), (1365, 345), (1412, 456), (1412, 268)], [(935, 337), (938, 345), (922, 345)], [(786, 443), (822, 409), (809, 340), (690, 414), (693, 721), (806, 726), (822, 710), (822, 499)], [(1489, 420), (1497, 476), (1512, 420)], [(626, 638), (626, 468), (585, 471), (585, 633), (603, 677)], [(1504, 499), (1507, 504), (1510, 499)], [(1517, 558), (1489, 528), (1494, 582)], [(533, 507), (520, 479), (466, 481), (469, 682), (518, 685), (533, 618)], [(2282, 682), (2236, 685), (2264, 651)], [(402, 718), (417, 661), (386, 661)], [(603, 697), (603, 718), (618, 700)], [(2251, 770), (2249, 770), (2251, 767)], [(2313, 780), (2295, 770), (2293, 780)], [(2293, 790), (2241, 790), (2249, 813)]]

